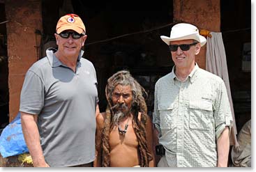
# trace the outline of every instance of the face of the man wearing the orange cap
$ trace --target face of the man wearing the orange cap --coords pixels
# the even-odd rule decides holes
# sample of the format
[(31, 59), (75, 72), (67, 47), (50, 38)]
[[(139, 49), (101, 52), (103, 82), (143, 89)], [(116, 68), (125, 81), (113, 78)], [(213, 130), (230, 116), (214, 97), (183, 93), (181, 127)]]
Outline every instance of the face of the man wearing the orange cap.
[[(75, 32), (73, 30), (67, 30), (67, 31)], [(87, 36), (85, 35), (85, 36), (82, 36), (81, 38), (74, 39), (70, 34), (68, 38), (62, 38), (60, 35), (55, 33), (55, 38), (58, 45), (58, 52), (62, 56), (77, 58), (78, 54), (80, 53), (80, 49), (82, 48), (82, 46), (84, 46), (86, 37)]]

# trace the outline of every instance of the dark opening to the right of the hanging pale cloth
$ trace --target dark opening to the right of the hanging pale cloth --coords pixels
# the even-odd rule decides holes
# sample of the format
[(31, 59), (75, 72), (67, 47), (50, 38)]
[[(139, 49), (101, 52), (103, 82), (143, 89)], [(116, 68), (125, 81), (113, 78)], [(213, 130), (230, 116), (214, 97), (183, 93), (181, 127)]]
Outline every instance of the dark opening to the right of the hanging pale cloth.
[(251, 2), (220, 1), (221, 32), (237, 132), (251, 118)]

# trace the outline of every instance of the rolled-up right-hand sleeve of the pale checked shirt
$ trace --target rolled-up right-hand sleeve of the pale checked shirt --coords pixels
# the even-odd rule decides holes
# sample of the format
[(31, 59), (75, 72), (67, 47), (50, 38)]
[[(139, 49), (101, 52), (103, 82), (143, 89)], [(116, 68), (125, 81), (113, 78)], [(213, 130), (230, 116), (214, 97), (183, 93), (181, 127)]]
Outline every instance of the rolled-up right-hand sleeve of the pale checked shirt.
[(224, 81), (220, 82), (217, 93), (218, 95), (214, 106), (214, 120), (216, 139), (218, 140), (220, 134), (222, 134), (223, 130), (227, 126), (229, 127), (230, 134), (233, 118)]

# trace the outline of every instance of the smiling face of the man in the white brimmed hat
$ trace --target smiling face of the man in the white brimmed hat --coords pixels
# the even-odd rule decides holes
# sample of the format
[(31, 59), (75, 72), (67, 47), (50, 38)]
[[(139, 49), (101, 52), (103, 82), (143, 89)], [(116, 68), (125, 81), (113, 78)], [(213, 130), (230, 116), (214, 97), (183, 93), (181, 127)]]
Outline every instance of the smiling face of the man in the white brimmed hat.
[[(170, 45), (188, 45), (192, 43), (193, 40), (176, 40), (170, 42)], [(176, 68), (193, 68), (195, 65), (195, 55), (199, 54), (200, 47), (200, 44), (197, 43), (196, 45), (190, 46), (190, 49), (187, 51), (183, 51), (181, 47), (178, 47), (175, 52), (171, 52)]]

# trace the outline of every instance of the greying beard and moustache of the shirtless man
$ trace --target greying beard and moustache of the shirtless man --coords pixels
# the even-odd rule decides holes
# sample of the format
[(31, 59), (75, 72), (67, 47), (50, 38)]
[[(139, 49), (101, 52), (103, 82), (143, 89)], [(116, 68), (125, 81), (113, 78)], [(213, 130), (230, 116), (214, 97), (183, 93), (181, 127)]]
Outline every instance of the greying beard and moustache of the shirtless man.
[[(122, 109), (123, 111), (121, 111)], [(114, 111), (114, 116), (113, 116), (113, 123), (114, 125), (119, 125), (119, 122), (126, 118), (126, 116), (130, 115), (130, 109), (126, 106), (126, 104), (119, 104), (118, 107), (116, 107), (116, 111)]]

